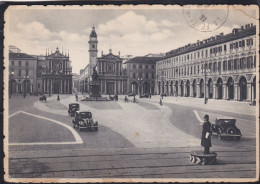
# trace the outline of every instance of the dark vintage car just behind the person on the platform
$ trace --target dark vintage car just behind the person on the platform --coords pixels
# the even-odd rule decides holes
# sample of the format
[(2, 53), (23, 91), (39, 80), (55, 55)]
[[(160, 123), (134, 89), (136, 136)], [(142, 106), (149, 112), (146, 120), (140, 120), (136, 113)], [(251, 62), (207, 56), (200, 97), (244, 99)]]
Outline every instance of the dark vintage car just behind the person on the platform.
[(222, 138), (234, 138), (240, 140), (242, 134), (236, 127), (236, 119), (216, 119), (212, 124), (212, 133), (218, 135), (218, 139)]

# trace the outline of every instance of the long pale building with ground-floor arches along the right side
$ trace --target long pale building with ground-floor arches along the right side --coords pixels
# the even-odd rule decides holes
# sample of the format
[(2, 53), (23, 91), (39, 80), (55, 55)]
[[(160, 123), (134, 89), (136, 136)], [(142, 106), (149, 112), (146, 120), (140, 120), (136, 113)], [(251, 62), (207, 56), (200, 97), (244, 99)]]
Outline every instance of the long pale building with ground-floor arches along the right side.
[[(247, 24), (172, 50), (156, 63), (156, 91), (224, 100), (256, 99), (256, 26)], [(205, 88), (204, 88), (205, 85)]]

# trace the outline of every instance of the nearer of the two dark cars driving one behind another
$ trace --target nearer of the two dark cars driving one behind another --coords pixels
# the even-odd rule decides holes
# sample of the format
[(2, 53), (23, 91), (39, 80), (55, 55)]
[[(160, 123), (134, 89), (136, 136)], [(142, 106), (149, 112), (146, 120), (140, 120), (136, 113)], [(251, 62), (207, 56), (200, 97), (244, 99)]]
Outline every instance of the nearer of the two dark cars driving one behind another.
[(98, 131), (98, 122), (92, 119), (92, 113), (89, 111), (76, 111), (75, 116), (72, 120), (73, 127), (78, 128), (79, 131), (82, 129)]

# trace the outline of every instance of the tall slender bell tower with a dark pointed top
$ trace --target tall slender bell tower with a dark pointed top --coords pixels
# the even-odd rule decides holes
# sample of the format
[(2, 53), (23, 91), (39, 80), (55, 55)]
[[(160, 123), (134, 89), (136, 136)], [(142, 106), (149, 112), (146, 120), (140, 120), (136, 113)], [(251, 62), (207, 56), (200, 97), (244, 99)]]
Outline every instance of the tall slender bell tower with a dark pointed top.
[(89, 74), (92, 75), (93, 68), (97, 65), (97, 33), (95, 27), (92, 27), (92, 31), (89, 35)]

